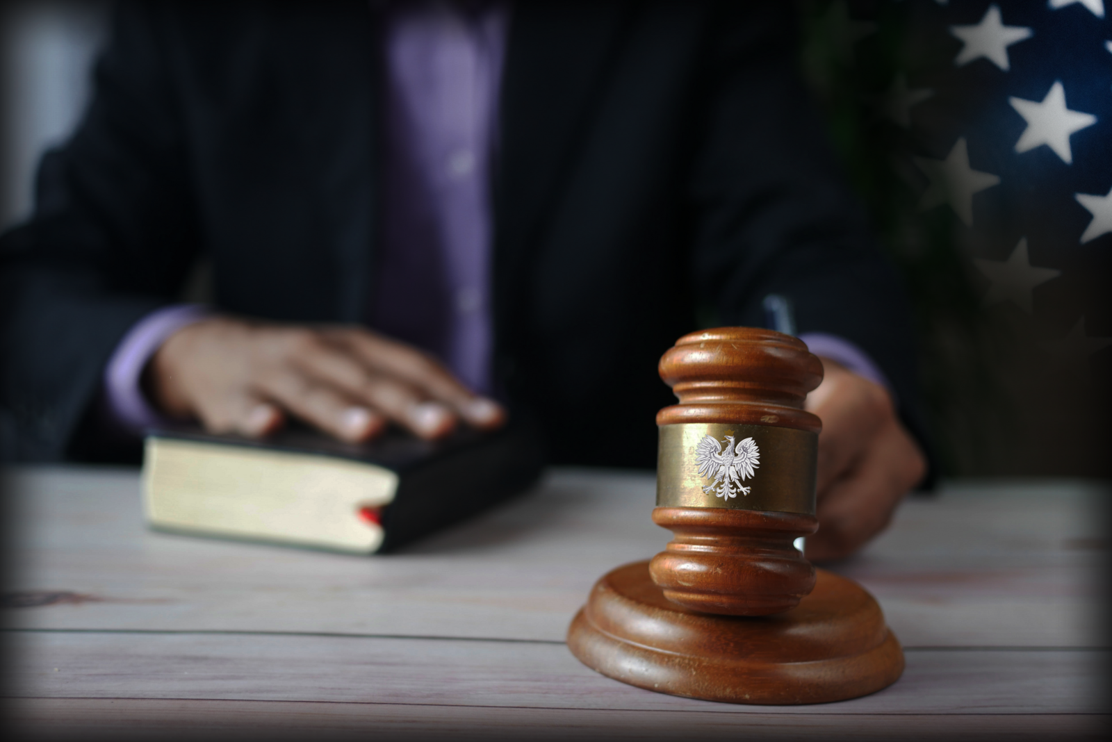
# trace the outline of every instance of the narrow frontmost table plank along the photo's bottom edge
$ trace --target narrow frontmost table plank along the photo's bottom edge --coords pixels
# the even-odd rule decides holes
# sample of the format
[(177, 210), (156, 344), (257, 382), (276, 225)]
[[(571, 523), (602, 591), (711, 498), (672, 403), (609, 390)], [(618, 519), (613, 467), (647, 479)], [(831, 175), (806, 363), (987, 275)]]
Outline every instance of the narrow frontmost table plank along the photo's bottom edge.
[[(1104, 740), (1106, 715), (694, 714), (676, 711), (478, 709), (418, 704), (147, 699), (26, 699), (18, 740)], [(9, 738), (10, 739), (10, 738)]]

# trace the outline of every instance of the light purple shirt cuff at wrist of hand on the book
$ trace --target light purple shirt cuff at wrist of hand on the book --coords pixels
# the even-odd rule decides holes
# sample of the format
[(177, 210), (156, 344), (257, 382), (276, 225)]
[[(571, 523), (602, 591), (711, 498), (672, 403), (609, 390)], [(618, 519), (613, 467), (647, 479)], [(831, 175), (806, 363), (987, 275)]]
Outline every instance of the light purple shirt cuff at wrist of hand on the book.
[(167, 338), (208, 314), (199, 304), (177, 304), (153, 311), (132, 325), (105, 368), (105, 401), (111, 422), (139, 434), (166, 420), (142, 393), (142, 370)]

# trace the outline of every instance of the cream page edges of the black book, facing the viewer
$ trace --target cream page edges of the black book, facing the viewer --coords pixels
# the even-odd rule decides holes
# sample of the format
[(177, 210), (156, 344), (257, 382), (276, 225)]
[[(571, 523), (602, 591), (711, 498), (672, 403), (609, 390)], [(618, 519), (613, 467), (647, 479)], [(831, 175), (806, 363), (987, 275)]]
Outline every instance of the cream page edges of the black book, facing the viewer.
[(143, 505), (156, 529), (374, 553), (381, 527), (363, 508), (394, 500), (398, 475), (326, 455), (151, 437)]

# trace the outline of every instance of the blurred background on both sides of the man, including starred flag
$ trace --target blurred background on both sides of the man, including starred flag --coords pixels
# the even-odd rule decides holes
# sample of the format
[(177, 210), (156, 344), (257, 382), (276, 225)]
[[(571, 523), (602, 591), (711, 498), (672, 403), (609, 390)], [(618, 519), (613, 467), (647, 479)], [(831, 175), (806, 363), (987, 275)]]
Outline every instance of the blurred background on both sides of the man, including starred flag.
[[(916, 310), (943, 474), (1112, 474), (1112, 2), (796, 0), (800, 66)], [(106, 0), (0, 4), (0, 229)]]

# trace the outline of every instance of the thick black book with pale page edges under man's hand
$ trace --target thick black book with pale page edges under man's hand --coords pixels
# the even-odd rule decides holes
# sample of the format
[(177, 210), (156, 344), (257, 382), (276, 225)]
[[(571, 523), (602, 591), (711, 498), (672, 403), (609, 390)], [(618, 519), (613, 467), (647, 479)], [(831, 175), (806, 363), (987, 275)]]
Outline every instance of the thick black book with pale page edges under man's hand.
[(161, 429), (146, 440), (143, 504), (158, 530), (369, 554), (470, 518), (539, 471), (536, 437), (514, 427), (361, 444), (300, 428), (261, 441)]

